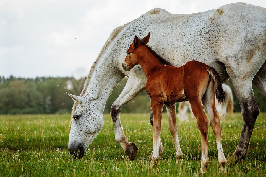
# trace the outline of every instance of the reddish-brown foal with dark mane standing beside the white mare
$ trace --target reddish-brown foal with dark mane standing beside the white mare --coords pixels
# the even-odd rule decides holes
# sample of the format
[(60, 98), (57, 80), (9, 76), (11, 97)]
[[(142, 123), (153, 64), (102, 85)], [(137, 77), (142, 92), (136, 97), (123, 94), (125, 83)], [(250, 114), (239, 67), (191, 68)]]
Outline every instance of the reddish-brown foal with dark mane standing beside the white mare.
[(130, 71), (135, 65), (140, 64), (147, 76), (145, 89), (151, 98), (153, 111), (153, 152), (150, 167), (153, 167), (155, 160), (159, 158), (163, 105), (167, 109), (168, 127), (174, 139), (176, 162), (182, 158), (183, 153), (179, 145), (176, 125), (175, 103), (188, 100), (192, 112), (197, 118), (201, 133), (201, 172), (205, 172), (209, 162), (207, 139), (209, 122), (202, 109), (201, 101), (210, 116), (210, 125), (217, 142), (220, 170), (226, 170), (226, 158), (221, 142), (222, 128), (215, 110), (215, 95), (220, 102), (225, 99), (225, 92), (218, 73), (214, 68), (198, 61), (189, 61), (179, 68), (169, 65), (167, 61), (146, 45), (149, 39), (150, 33), (142, 40), (135, 36), (133, 43), (127, 50), (127, 56), (122, 66), (125, 71)]

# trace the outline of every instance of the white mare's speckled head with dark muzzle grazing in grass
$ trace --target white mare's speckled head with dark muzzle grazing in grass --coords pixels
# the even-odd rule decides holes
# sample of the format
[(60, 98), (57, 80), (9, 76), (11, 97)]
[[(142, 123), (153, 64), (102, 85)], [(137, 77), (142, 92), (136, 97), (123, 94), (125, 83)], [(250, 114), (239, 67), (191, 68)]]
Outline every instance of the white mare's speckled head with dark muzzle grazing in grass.
[(75, 101), (69, 133), (68, 149), (72, 157), (82, 158), (86, 148), (103, 127), (103, 117), (93, 101), (69, 94)]

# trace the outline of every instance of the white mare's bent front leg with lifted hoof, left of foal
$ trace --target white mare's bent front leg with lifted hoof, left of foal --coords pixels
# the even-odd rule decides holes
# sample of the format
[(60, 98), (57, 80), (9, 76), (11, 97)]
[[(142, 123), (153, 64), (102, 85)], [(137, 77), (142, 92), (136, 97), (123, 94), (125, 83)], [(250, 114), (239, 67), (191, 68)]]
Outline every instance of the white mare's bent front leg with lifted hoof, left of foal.
[(120, 112), (124, 105), (137, 96), (142, 90), (144, 90), (144, 88), (145, 84), (141, 80), (138, 80), (135, 77), (129, 77), (126, 86), (116, 101), (112, 104), (111, 108), (115, 139), (131, 160), (134, 160), (136, 157), (138, 148), (133, 142), (128, 142), (128, 138), (124, 134), (120, 121)]

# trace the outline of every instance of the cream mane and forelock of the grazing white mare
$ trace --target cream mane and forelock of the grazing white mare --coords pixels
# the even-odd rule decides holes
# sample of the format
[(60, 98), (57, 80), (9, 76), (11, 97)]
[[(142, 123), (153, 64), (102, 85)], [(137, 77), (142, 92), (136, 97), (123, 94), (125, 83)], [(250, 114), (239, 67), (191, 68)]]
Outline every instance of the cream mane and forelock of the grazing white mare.
[[(110, 43), (111, 43), (111, 42), (114, 40), (114, 38), (119, 34), (119, 32), (121, 32), (121, 31), (126, 27), (126, 25), (129, 24), (129, 23), (130, 23), (130, 22), (128, 22), (128, 23), (126, 23), (126, 24), (124, 24), (124, 25), (122, 25), (122, 26), (119, 26), (119, 27), (115, 28), (115, 29), (111, 32), (111, 34), (110, 34), (110, 36), (108, 37), (107, 41), (106, 41), (105, 44), (103, 45), (102, 50), (101, 50), (100, 53), (98, 54), (98, 57), (97, 57), (96, 60), (93, 62), (93, 65), (92, 65), (92, 67), (90, 68), (90, 72), (89, 72), (89, 74), (88, 74), (88, 76), (87, 76), (87, 78), (86, 78), (86, 81), (84, 82), (84, 86), (83, 86), (83, 89), (82, 89), (82, 92), (81, 92), (80, 96), (84, 96), (84, 94), (85, 94), (85, 92), (86, 92), (86, 90), (87, 90), (87, 88), (88, 88), (88, 85), (89, 85), (89, 82), (90, 82), (91, 76), (92, 76), (92, 74), (93, 74), (94, 68), (95, 68), (95, 66), (97, 65), (97, 63), (98, 63), (98, 61), (100, 60), (100, 58), (101, 58), (101, 56), (103, 55), (103, 53), (105, 52), (107, 46), (110, 45)], [(78, 102), (75, 101), (74, 104), (73, 104), (73, 107), (72, 107), (70, 125), (71, 125), (71, 122), (72, 122), (72, 118), (73, 118), (74, 111), (75, 111), (75, 109), (76, 109), (76, 107), (77, 107), (77, 103), (78, 103)]]

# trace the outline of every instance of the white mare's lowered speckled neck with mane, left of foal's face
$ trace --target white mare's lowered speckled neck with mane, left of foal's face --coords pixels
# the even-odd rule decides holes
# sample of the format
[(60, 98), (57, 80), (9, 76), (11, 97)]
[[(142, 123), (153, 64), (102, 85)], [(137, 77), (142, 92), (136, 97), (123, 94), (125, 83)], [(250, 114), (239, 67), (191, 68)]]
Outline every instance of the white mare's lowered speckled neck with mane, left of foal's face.
[[(121, 67), (118, 65), (119, 59), (126, 56), (127, 45), (125, 45), (125, 41), (121, 40), (120, 37), (128, 24), (130, 23), (113, 30), (98, 59), (93, 64), (92, 70), (89, 73), (89, 81), (85, 82), (86, 89), (82, 96), (88, 101), (93, 101), (101, 112), (103, 112), (105, 103), (113, 89), (125, 76), (119, 70)], [(126, 43), (129, 44), (128, 41)]]

